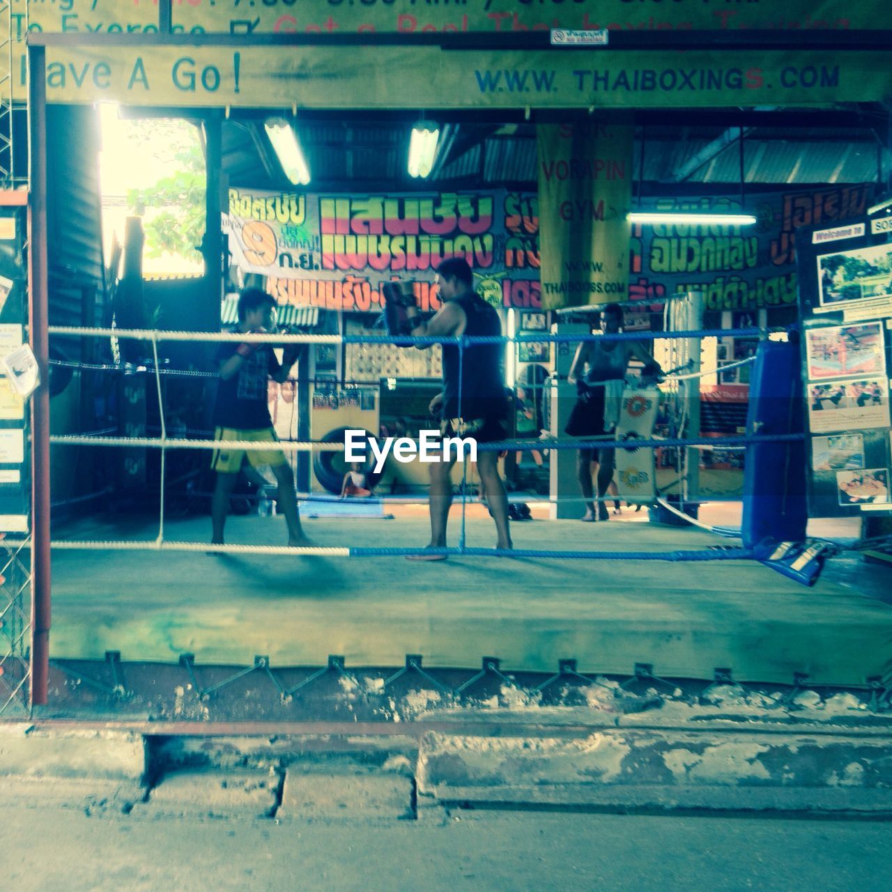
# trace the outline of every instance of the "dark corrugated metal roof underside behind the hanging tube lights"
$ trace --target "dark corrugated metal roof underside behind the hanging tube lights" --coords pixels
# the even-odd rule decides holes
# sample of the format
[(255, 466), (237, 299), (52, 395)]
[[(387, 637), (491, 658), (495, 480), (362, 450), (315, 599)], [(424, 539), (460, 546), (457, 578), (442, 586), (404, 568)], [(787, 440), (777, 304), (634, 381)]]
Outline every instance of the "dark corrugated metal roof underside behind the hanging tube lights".
[[(406, 172), (408, 121), (298, 120), (296, 127), (313, 189), (408, 191), (430, 188), (432, 183), (535, 186), (532, 124), (507, 128), (499, 128), (498, 122), (450, 124), (456, 131), (452, 151), (426, 181), (412, 180)], [(739, 183), (738, 132), (705, 124), (639, 128), (634, 177), (640, 178), (643, 146), (646, 183), (672, 183), (680, 171), (688, 184)], [(232, 185), (288, 186), (265, 140), (260, 120), (224, 124), (224, 168)], [(747, 131), (744, 150), (747, 184), (859, 183), (877, 176), (877, 144), (869, 128), (759, 127)], [(261, 153), (266, 153), (265, 160)]]

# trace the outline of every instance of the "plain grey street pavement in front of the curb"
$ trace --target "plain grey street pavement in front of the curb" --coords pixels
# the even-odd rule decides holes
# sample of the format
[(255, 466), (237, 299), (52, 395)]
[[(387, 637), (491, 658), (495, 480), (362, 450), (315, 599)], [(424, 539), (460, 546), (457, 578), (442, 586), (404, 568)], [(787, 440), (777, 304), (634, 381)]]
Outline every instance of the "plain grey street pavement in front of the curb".
[(21, 892), (886, 892), (892, 823), (456, 812), (444, 823), (88, 817), (0, 804)]

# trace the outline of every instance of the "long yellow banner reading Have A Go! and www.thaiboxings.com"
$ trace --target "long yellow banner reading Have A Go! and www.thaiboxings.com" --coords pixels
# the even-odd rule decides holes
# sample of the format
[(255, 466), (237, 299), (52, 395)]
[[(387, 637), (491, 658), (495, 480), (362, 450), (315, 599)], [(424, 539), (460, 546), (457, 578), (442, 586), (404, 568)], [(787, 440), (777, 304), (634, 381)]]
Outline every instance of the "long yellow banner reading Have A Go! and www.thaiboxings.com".
[(888, 55), (875, 52), (399, 46), (386, 49), (384, 68), (382, 52), (374, 46), (51, 46), (46, 95), (51, 103), (193, 107), (620, 109), (880, 102), (892, 94)]

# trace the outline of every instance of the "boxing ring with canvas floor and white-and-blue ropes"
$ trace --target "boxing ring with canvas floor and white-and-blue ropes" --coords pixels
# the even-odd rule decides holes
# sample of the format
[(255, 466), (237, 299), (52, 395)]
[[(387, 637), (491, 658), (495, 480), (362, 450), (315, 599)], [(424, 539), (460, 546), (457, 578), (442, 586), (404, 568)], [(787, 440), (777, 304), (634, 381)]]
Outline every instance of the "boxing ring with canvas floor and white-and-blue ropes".
[[(270, 666), (322, 666), (308, 669), (296, 686), (270, 676), (276, 696), (285, 702), (302, 690), (304, 682), (310, 683), (307, 680), (325, 680), (333, 672), (341, 677), (346, 665), (390, 667), (400, 677), (409, 673), (424, 683), (420, 668), (424, 660), (426, 673), (444, 666), (464, 667), (470, 673), (452, 685), (455, 693), (476, 678), (476, 671), (467, 667), (480, 665), (483, 658), (481, 671), (489, 676), (494, 667), (497, 681), (509, 671), (541, 673), (547, 680), (556, 671), (566, 675), (571, 665), (575, 673), (578, 665), (579, 678), (587, 677), (581, 673), (596, 672), (645, 681), (651, 675), (706, 681), (721, 677), (781, 685), (808, 679), (814, 685), (875, 686), (885, 696), (884, 680), (892, 674), (892, 607), (863, 597), (839, 579), (822, 578), (813, 588), (805, 588), (775, 574), (761, 562), (765, 555), (758, 549), (732, 544), (729, 536), (734, 531), (727, 528), (621, 523), (592, 527), (549, 520), (513, 524), (514, 549), (483, 548), (473, 543), (491, 535), (491, 520), (468, 499), (464, 485), (450, 515), (458, 520), (452, 533), (457, 544), (445, 549), (420, 547), (427, 523), (423, 501), (416, 516), (401, 516), (387, 524), (360, 520), (348, 528), (336, 518), (314, 521), (310, 534), (318, 543), (310, 547), (268, 544), (271, 535), (283, 532), (271, 529), (278, 518), (231, 517), (230, 532), (239, 544), (211, 546), (207, 517), (166, 516), (169, 450), (212, 450), (215, 443), (169, 435), (161, 375), (177, 370), (161, 368), (161, 342), (281, 346), (384, 341), (406, 347), (455, 343), (461, 355), (474, 343), (765, 337), (766, 330), (458, 339), (61, 326), (48, 327), (47, 333), (151, 344), (160, 436), (65, 434), (46, 439), (57, 445), (158, 450), (161, 486), (157, 522), (136, 524), (129, 538), (120, 538), (114, 524), (91, 521), (74, 524), (70, 535), (46, 543), (53, 553), (53, 661), (51, 665), (49, 653), (39, 649), (33, 654), (36, 686), (42, 677), (58, 691), (59, 673), (78, 674), (87, 686), (99, 684), (95, 669), (81, 665), (75, 671), (72, 665), (98, 661), (113, 669), (122, 657), (178, 666), (202, 695), (257, 671), (266, 677)], [(698, 374), (706, 372), (676, 376), (681, 380)], [(552, 437), (482, 443), (478, 449), (747, 448), (796, 443), (802, 437), (801, 433), (651, 437), (636, 440), (633, 447), (618, 439)], [(230, 445), (253, 450), (265, 444)], [(282, 442), (281, 447), (292, 454), (342, 451), (343, 443)], [(48, 503), (37, 505), (36, 515), (48, 520)], [(46, 528), (48, 532), (48, 523)], [(39, 532), (36, 524), (36, 557), (41, 553)], [(348, 534), (350, 541), (345, 544)], [(568, 547), (583, 536), (591, 547)], [(8, 545), (23, 547), (14, 541)], [(450, 559), (414, 566), (403, 559), (423, 550)], [(701, 569), (706, 563), (708, 576)], [(49, 565), (41, 572), (48, 582)], [(47, 614), (42, 622), (48, 632), (49, 591), (45, 594)], [(495, 656), (483, 657), (487, 654)], [(37, 665), (39, 659), (45, 660), (43, 667)], [(211, 667), (210, 677), (217, 681), (199, 683), (198, 666)], [(215, 674), (214, 666), (235, 668)], [(399, 666), (403, 669), (395, 668)], [(120, 686), (109, 682), (106, 687), (117, 691)], [(35, 702), (40, 700), (36, 697)]]

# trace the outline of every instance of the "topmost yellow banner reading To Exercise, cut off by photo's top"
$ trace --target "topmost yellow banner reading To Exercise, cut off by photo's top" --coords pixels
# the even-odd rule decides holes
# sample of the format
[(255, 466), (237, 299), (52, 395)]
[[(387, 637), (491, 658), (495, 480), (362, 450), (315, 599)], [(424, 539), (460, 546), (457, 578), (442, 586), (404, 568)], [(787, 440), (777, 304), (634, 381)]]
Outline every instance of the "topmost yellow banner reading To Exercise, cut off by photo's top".
[[(171, 17), (173, 33), (196, 35), (505, 33), (551, 28), (609, 29), (613, 32), (689, 29), (765, 29), (776, 32), (892, 29), (892, 3), (889, 0), (860, 0), (856, 4), (850, 0), (750, 0), (746, 3), (725, 0), (442, 0), (441, 3), (435, 0), (425, 3), (420, 0), (301, 0), (300, 3), (297, 0), (173, 0)], [(13, 95), (23, 101), (27, 86), (24, 41), (29, 31), (72, 35), (156, 34), (160, 31), (159, 3), (158, 0), (12, 0), (10, 25)], [(284, 47), (274, 51), (258, 50), (261, 56), (270, 52), (284, 57), (292, 53)], [(386, 53), (388, 57), (392, 54), (390, 48), (376, 52)], [(349, 58), (352, 50), (344, 48), (339, 53), (342, 58)], [(97, 63), (103, 61), (100, 50), (91, 50), (89, 55)], [(220, 62), (212, 64), (219, 66)], [(510, 66), (506, 70), (524, 72), (527, 67), (533, 70), (533, 66), (519, 69)], [(554, 67), (550, 64), (542, 70), (548, 72)], [(574, 68), (580, 67), (585, 66), (574, 65)], [(591, 64), (589, 67), (599, 70)], [(560, 68), (568, 69), (568, 61), (560, 62)], [(741, 70), (746, 70), (746, 66)], [(412, 71), (410, 77), (415, 80), (417, 70)], [(529, 77), (533, 77), (532, 73)], [(648, 92), (648, 76), (643, 77), (641, 83), (644, 86), (635, 89)], [(806, 76), (806, 82), (808, 79)], [(487, 84), (490, 87), (486, 87)], [(470, 86), (474, 87), (474, 83)], [(496, 94), (501, 89), (509, 99), (518, 92), (541, 92), (532, 81), (527, 84), (522, 74), (519, 81), (513, 79), (512, 74), (493, 82), (483, 73), (483, 87), (479, 87), (478, 92), (485, 92), (487, 88)], [(584, 89), (584, 84), (580, 89)], [(653, 92), (659, 93), (659, 90)], [(813, 100), (804, 96), (797, 101)], [(431, 104), (427, 99), (425, 103)], [(378, 102), (373, 107), (392, 104)], [(648, 103), (632, 104), (644, 106)]]

